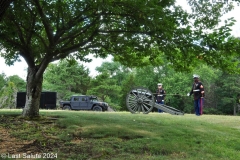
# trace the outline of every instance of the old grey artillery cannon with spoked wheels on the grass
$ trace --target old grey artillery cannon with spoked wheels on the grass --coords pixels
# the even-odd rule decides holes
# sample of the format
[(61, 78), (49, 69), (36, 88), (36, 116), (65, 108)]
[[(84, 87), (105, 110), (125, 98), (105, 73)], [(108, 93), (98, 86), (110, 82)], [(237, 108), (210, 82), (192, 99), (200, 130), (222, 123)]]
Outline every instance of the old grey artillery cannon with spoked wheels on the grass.
[(184, 112), (176, 108), (155, 103), (154, 94), (148, 89), (141, 87), (134, 88), (127, 94), (126, 105), (131, 113), (142, 112), (148, 114), (152, 111), (153, 107), (155, 107), (173, 115), (184, 115)]

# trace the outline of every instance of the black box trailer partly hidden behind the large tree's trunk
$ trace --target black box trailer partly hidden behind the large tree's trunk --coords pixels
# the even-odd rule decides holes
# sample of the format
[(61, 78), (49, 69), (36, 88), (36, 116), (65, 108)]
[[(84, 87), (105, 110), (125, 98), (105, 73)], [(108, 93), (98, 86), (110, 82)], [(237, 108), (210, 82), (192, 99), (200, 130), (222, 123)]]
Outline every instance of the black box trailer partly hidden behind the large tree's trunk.
[[(26, 92), (17, 93), (16, 108), (24, 108), (26, 103)], [(42, 92), (40, 98), (40, 109), (56, 109), (57, 92)]]

